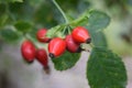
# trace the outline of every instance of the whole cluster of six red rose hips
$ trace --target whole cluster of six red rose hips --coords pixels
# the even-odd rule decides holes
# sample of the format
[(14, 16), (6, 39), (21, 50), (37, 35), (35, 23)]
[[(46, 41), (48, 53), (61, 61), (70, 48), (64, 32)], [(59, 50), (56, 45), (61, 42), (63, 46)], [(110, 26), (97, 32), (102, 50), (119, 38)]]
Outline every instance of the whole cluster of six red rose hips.
[(45, 48), (36, 48), (35, 45), (26, 40), (22, 43), (21, 52), (26, 62), (33, 62), (36, 58), (44, 67), (48, 69), (48, 56), (55, 58), (61, 56), (66, 50), (70, 53), (80, 53), (84, 51), (80, 47), (81, 43), (90, 43), (91, 38), (87, 29), (77, 26), (72, 34), (66, 35), (65, 38), (46, 36), (46, 29), (41, 29), (36, 33), (36, 37), (41, 43), (48, 43), (48, 55)]

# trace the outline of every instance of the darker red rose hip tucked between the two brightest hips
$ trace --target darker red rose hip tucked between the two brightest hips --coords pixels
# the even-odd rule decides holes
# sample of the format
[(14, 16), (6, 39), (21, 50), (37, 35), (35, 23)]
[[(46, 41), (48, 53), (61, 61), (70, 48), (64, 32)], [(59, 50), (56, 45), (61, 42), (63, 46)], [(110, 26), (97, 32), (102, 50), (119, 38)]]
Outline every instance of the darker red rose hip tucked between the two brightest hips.
[(68, 52), (70, 53), (81, 52), (80, 44), (76, 43), (70, 34), (66, 36), (65, 41), (66, 48)]

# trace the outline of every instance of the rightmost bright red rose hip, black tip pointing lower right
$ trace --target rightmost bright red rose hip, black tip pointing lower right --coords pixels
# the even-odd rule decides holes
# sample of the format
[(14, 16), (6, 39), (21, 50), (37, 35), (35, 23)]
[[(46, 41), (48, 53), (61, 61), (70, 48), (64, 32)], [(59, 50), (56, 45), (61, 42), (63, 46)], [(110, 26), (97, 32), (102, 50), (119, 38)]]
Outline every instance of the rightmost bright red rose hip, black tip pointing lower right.
[(72, 36), (77, 43), (90, 43), (91, 38), (88, 30), (82, 26), (77, 26), (73, 30)]

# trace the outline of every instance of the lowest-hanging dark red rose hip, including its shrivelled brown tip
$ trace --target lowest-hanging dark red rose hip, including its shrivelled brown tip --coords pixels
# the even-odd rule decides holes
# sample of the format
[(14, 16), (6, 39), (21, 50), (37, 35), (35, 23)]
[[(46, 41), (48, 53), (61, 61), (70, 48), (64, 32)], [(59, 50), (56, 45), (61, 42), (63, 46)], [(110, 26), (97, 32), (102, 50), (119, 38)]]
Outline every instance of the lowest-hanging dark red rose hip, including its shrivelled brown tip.
[(41, 63), (44, 67), (46, 74), (50, 74), (50, 66), (48, 66), (48, 56), (45, 48), (38, 48), (35, 53), (36, 59)]

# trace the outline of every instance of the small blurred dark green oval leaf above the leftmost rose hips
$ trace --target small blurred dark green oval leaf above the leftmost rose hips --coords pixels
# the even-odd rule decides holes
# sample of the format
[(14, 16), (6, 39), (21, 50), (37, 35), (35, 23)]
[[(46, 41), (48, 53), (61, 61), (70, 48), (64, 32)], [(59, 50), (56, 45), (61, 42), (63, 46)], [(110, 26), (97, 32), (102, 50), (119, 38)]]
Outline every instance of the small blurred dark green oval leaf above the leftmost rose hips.
[(19, 21), (14, 24), (15, 29), (20, 32), (26, 33), (32, 30), (32, 25), (29, 22)]

